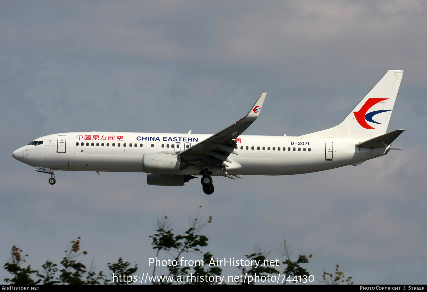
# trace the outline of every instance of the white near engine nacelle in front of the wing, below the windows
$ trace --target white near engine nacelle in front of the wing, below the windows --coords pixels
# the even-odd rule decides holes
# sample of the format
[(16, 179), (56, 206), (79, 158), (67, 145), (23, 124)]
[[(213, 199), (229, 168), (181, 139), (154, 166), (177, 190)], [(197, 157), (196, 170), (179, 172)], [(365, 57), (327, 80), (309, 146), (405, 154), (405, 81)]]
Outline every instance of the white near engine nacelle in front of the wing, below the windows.
[(142, 157), (143, 171), (149, 173), (178, 173), (185, 168), (185, 161), (176, 154), (148, 153)]

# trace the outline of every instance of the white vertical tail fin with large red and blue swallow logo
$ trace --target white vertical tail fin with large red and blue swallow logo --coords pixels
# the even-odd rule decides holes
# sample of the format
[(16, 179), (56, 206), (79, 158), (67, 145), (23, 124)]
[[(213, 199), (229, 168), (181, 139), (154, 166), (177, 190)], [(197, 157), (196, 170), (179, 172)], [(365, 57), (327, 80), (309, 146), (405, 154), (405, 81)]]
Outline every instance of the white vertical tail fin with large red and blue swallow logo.
[(402, 76), (402, 70), (387, 71), (339, 125), (303, 136), (369, 140), (386, 134)]

